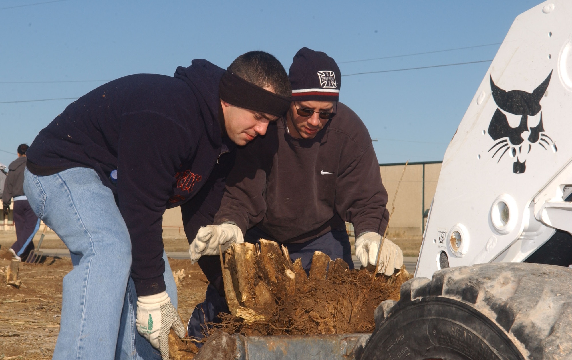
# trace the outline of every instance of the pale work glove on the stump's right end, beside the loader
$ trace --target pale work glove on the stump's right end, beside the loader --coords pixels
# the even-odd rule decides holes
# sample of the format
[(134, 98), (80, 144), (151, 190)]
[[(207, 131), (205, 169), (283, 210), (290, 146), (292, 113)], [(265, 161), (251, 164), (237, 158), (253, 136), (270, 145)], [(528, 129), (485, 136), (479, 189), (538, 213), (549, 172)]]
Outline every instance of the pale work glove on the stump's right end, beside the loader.
[[(375, 266), (375, 261), (378, 257), (379, 243), (381, 241), (382, 235), (374, 233), (373, 231), (362, 233), (358, 239), (356, 239), (356, 257), (362, 262), (363, 266), (367, 266), (368, 263)], [(386, 238), (379, 254), (378, 273), (391, 276), (396, 269), (401, 269), (402, 266), (403, 251), (399, 249), (399, 246)]]

